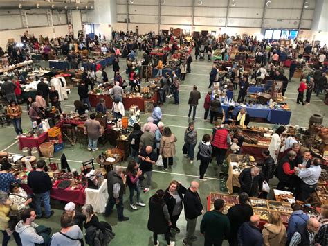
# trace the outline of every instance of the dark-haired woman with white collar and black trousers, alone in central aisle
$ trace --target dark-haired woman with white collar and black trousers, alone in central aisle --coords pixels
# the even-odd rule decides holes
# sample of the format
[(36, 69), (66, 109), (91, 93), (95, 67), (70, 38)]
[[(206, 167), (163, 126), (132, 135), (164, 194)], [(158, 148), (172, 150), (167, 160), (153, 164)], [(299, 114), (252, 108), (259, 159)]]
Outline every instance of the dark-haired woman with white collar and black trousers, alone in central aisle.
[(207, 181), (204, 179), (206, 169), (208, 164), (212, 161), (212, 146), (210, 144), (210, 135), (204, 134), (203, 139), (199, 142), (198, 145), (199, 152), (197, 154), (197, 159), (200, 159), (201, 164), (199, 165), (199, 181)]

